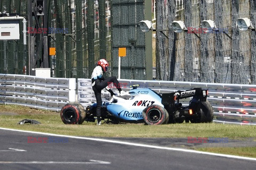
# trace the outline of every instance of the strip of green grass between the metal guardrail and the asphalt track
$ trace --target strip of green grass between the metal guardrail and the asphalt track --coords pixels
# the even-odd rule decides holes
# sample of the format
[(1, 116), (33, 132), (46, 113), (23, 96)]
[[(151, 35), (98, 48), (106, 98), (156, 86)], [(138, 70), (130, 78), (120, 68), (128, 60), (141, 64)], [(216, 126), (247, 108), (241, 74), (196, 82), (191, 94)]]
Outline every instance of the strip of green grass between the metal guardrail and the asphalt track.
[[(6, 115), (0, 113), (0, 127), (46, 133), (86, 136), (86, 137), (133, 137), (133, 138), (187, 138), (187, 137), (215, 137), (230, 140), (256, 141), (256, 126), (241, 126), (216, 123), (182, 123), (150, 126), (140, 124), (102, 124), (84, 122), (82, 125), (63, 124), (58, 112), (42, 111), (28, 107), (0, 105), (1, 113), (15, 113)], [(29, 118), (41, 122), (39, 125), (17, 124)], [(218, 152), (222, 154), (256, 157), (255, 147), (242, 148), (195, 148), (196, 150)]]

